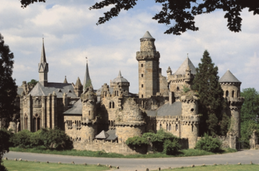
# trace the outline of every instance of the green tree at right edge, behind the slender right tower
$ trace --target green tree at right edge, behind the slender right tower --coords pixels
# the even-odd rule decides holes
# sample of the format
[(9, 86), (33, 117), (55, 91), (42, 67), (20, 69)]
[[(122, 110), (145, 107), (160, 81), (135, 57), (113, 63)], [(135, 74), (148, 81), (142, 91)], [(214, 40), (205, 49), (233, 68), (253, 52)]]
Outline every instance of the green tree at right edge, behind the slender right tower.
[(259, 133), (259, 92), (255, 88), (245, 88), (241, 92), (244, 104), (241, 108), (241, 140), (245, 147), (249, 147), (249, 139), (253, 130)]

